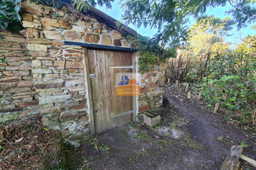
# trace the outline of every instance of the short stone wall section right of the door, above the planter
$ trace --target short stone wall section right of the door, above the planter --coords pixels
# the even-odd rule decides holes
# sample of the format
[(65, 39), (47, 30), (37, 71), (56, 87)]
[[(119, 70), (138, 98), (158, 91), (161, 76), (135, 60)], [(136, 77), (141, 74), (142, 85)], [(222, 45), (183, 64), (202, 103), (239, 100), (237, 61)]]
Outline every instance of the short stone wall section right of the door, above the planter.
[(139, 97), (139, 112), (161, 107), (163, 105), (166, 64), (154, 66), (149, 73), (142, 74), (141, 95)]

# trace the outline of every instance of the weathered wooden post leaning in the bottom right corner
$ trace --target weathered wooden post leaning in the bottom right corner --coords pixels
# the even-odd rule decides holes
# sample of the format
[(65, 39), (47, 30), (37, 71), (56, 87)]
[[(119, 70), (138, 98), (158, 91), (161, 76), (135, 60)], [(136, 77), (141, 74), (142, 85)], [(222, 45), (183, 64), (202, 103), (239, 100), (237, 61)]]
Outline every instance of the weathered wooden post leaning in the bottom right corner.
[(230, 149), (230, 155), (227, 155), (227, 158), (224, 160), (223, 165), (221, 165), (220, 170), (238, 170), (240, 167), (240, 155), (244, 146), (232, 146)]

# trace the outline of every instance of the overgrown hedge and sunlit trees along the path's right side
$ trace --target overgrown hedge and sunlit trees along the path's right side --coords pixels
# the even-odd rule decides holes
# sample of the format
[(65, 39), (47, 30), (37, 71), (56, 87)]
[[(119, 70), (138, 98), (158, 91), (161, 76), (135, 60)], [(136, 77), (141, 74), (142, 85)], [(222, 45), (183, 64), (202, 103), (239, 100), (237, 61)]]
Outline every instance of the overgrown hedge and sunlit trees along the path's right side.
[(231, 47), (223, 39), (229, 26), (227, 18), (199, 19), (190, 28), (189, 46), (168, 59), (168, 78), (196, 84), (209, 107), (220, 102), (234, 122), (254, 124), (256, 36)]

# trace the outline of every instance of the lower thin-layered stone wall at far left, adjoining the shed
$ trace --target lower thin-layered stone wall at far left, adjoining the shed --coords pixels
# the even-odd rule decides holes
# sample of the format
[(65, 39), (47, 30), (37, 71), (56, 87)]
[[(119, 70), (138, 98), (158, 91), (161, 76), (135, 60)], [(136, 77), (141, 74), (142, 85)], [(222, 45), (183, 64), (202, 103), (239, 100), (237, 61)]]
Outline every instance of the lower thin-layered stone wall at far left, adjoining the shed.
[(27, 39), (19, 33), (0, 34), (0, 123), (40, 114)]

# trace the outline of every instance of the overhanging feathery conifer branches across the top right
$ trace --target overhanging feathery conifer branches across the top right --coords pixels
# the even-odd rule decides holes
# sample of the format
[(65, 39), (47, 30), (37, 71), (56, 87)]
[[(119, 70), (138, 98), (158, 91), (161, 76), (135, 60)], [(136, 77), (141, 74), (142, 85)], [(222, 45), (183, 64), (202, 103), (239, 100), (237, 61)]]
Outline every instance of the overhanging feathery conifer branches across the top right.
[[(122, 4), (124, 9), (122, 18), (127, 24), (158, 29), (157, 36), (161, 37), (161, 40), (168, 46), (182, 46), (187, 39), (186, 25), (189, 17), (199, 19), (206, 12), (206, 8), (224, 6), (227, 3), (233, 6), (227, 13), (234, 17), (234, 22), (229, 21), (229, 26), (235, 23), (240, 29), (247, 23), (255, 22), (254, 1), (248, 0), (234, 2), (229, 0), (126, 0)], [(212, 23), (216, 22), (218, 21), (212, 20)], [(220, 26), (223, 26), (223, 23), (220, 22)]]

